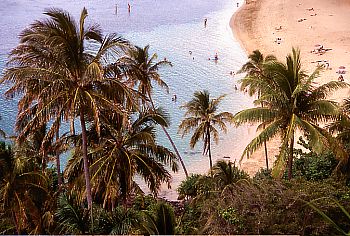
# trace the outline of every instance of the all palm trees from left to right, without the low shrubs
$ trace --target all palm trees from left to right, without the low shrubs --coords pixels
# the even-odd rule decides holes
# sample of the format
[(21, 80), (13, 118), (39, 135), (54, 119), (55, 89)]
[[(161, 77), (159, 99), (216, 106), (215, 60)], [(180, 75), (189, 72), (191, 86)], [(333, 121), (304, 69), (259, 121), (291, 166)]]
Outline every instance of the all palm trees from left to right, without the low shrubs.
[[(66, 222), (65, 214), (75, 216), (72, 224), (83, 225), (80, 231), (67, 232), (97, 232), (84, 223), (86, 218), (91, 225), (99, 224), (94, 223), (93, 203), (109, 211), (103, 213), (107, 218), (116, 217), (113, 210), (120, 205), (126, 209), (129, 198), (141, 192), (135, 176), (155, 195), (162, 183), (170, 184), (170, 171), (178, 170), (178, 161), (188, 177), (166, 130), (168, 118), (152, 99), (155, 83), (168, 91), (158, 69), (171, 63), (157, 61), (149, 46), (132, 45), (116, 34), (103, 35), (98, 25), (87, 25), (85, 8), (79, 22), (60, 9), (45, 14), (47, 19), (35, 21), (20, 34), (0, 81), (10, 84), (6, 96), (19, 97), (14, 145), (0, 145), (0, 232), (49, 234), (56, 232), (50, 228), (55, 218)], [(292, 177), (297, 130), (307, 136), (314, 151), (329, 148), (342, 166), (348, 164), (349, 101), (341, 109), (326, 99), (348, 85), (332, 81), (315, 87), (312, 82), (320, 68), (306, 75), (298, 50), (293, 49), (286, 63), (259, 51), (249, 59), (241, 69), (247, 73), (241, 89), (258, 94), (257, 107), (234, 116), (218, 112), (224, 96), (210, 98), (205, 90), (195, 92), (183, 105), (186, 113), (179, 133), (193, 132), (191, 148), (203, 141), (211, 177), (221, 173), (219, 179), (225, 182), (234, 176), (232, 163), (220, 162), (214, 168), (212, 164), (211, 142), (218, 142), (219, 130), (226, 132), (226, 123), (259, 124), (261, 132), (243, 156), (265, 144), (267, 167), (266, 141), (281, 135), (276, 176), (288, 166)], [(328, 121), (333, 123), (325, 126)], [(67, 124), (69, 131), (62, 127)], [(157, 126), (175, 154), (157, 143)], [(67, 151), (71, 158), (63, 177), (60, 156)], [(50, 168), (52, 162), (55, 168)], [(59, 211), (57, 202), (62, 203)]]

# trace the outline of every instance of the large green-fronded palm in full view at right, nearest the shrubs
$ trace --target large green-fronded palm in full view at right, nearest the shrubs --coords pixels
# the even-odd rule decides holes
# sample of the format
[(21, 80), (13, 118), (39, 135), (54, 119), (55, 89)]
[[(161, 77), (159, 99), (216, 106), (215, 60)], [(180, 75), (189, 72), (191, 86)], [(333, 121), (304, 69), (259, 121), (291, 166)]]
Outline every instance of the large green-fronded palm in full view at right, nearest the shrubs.
[[(294, 134), (302, 131), (309, 137), (310, 145), (317, 153), (325, 145), (337, 153), (339, 159), (347, 158), (334, 139), (319, 127), (319, 122), (337, 118), (339, 109), (336, 102), (327, 100), (327, 95), (339, 88), (347, 86), (344, 82), (331, 81), (319, 87), (313, 86), (313, 80), (318, 76), (320, 68), (310, 76), (301, 70), (300, 52), (292, 49), (292, 54), (286, 58), (286, 64), (271, 61), (265, 64), (268, 80), (251, 78), (258, 87), (264, 88), (256, 103), (264, 106), (246, 109), (234, 116), (236, 125), (243, 123), (260, 123), (265, 127), (245, 148), (242, 158), (250, 156), (264, 141), (280, 134), (282, 137), (281, 151), (273, 174), (281, 176), (288, 166), (288, 178), (292, 178)], [(338, 150), (338, 151), (337, 151)], [(287, 161), (285, 157), (288, 157)]]

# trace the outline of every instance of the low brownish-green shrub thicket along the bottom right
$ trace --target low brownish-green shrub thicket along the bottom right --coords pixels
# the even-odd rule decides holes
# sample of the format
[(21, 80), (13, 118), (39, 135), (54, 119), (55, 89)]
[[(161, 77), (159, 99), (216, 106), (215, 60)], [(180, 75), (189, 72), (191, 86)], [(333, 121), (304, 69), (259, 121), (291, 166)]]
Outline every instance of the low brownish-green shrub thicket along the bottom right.
[[(271, 178), (242, 180), (228, 185), (209, 199), (193, 199), (185, 210), (179, 231), (191, 234), (334, 235), (332, 225), (324, 222), (317, 212), (310, 211), (305, 202), (332, 196), (343, 206), (349, 206), (349, 193), (349, 188), (333, 179), (323, 182), (300, 178), (288, 182)], [(332, 218), (341, 212), (330, 201), (320, 202), (320, 205), (321, 210)], [(350, 226), (345, 217), (337, 219), (342, 228)]]

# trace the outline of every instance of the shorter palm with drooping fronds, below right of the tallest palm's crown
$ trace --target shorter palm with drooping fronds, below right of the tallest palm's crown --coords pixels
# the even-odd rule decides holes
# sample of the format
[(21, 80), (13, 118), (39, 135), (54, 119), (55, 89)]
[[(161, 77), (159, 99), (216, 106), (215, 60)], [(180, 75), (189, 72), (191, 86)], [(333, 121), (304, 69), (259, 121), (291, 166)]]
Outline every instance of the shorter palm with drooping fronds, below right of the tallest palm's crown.
[[(177, 171), (176, 156), (167, 148), (158, 145), (155, 126), (167, 122), (157, 111), (144, 111), (128, 118), (129, 125), (118, 125), (117, 116), (104, 114), (101, 120), (101, 136), (94, 127), (88, 132), (88, 139), (94, 140), (95, 147), (90, 156), (93, 195), (103, 207), (113, 209), (119, 200), (127, 199), (135, 189), (134, 181), (140, 176), (153, 194), (157, 194), (160, 184), (170, 184), (171, 175), (165, 166)], [(73, 158), (67, 166), (69, 179), (79, 175), (81, 159)]]

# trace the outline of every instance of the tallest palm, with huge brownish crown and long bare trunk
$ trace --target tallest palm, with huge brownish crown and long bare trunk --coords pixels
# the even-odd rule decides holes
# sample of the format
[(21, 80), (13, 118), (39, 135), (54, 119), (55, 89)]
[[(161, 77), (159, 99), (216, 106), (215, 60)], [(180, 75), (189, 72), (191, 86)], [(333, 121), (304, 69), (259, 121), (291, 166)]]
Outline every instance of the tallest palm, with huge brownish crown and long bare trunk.
[[(49, 19), (36, 21), (20, 35), (3, 81), (13, 83), (7, 95), (23, 92), (20, 112), (33, 103), (39, 106), (33, 122), (24, 130), (57, 117), (65, 121), (79, 117), (86, 198), (91, 208), (86, 126), (94, 122), (99, 131), (102, 107), (124, 112), (121, 94), (127, 97), (128, 90), (119, 80), (109, 77), (104, 68), (116, 60), (127, 41), (115, 34), (104, 37), (98, 25), (86, 26), (85, 8), (79, 23), (60, 9), (50, 9), (45, 14)], [(57, 132), (57, 126), (53, 128)], [(52, 137), (56, 132), (51, 132)]]

